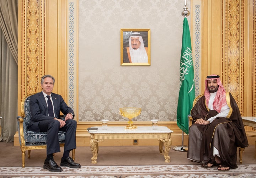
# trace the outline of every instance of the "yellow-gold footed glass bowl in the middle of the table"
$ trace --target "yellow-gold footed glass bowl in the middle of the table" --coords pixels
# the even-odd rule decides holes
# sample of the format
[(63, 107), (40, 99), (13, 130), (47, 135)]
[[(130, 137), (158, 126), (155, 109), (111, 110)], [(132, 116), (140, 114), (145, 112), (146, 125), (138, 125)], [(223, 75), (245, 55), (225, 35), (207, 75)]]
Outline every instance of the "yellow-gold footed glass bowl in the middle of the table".
[(126, 117), (129, 119), (128, 121), (129, 125), (126, 126), (126, 129), (136, 129), (137, 126), (133, 125), (132, 118), (135, 118), (138, 115), (140, 115), (141, 108), (119, 108), (119, 110), (120, 110), (120, 114), (123, 117)]

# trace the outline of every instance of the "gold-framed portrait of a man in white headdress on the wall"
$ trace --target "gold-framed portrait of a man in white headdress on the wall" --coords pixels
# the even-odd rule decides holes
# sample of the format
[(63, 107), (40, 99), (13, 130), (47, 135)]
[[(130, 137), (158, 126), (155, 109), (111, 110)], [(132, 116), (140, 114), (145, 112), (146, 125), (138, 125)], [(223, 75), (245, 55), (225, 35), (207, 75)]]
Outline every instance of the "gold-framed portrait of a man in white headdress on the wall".
[(150, 29), (120, 30), (120, 65), (150, 65)]

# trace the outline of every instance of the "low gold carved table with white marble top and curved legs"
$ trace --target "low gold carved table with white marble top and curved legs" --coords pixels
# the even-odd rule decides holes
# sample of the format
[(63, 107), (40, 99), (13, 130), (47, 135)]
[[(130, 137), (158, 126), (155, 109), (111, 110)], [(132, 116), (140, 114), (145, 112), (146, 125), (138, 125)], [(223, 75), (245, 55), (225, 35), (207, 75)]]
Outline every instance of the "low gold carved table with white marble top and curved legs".
[[(164, 155), (165, 162), (170, 162), (169, 151), (171, 148), (172, 130), (166, 126), (158, 126), (153, 130), (151, 126), (138, 126), (137, 129), (125, 129), (122, 126), (108, 126), (107, 130), (97, 127), (97, 131), (89, 131), (91, 134), (90, 147), (92, 151), (91, 163), (97, 163), (98, 143), (105, 139), (158, 139), (160, 155)], [(165, 149), (164, 149), (165, 148)]]

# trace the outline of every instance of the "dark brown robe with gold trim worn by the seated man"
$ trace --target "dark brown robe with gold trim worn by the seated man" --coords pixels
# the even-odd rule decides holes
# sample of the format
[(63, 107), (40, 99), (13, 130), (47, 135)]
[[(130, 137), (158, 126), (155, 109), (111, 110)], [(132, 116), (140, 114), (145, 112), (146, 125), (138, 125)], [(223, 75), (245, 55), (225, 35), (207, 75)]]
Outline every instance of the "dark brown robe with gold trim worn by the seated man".
[(206, 106), (204, 96), (191, 109), (193, 124), (189, 130), (188, 159), (202, 163), (212, 162), (215, 160), (214, 146), (219, 151), (222, 166), (237, 168), (237, 147), (247, 147), (248, 141), (239, 108), (231, 93), (226, 93), (226, 102), (230, 108), (228, 116), (217, 117), (208, 125), (194, 124), (196, 119), (207, 120), (218, 114)]

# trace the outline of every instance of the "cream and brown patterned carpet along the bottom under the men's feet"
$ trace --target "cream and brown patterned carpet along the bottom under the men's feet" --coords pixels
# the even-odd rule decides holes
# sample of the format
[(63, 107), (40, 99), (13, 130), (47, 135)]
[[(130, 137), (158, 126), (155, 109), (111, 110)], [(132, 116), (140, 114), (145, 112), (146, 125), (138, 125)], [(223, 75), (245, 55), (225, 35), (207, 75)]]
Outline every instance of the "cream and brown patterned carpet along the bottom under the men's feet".
[(63, 172), (49, 172), (43, 167), (0, 167), (0, 178), (256, 178), (256, 164), (241, 164), (236, 169), (220, 172), (217, 167), (200, 165), (155, 166), (82, 166), (63, 167)]

